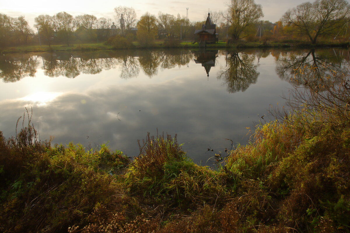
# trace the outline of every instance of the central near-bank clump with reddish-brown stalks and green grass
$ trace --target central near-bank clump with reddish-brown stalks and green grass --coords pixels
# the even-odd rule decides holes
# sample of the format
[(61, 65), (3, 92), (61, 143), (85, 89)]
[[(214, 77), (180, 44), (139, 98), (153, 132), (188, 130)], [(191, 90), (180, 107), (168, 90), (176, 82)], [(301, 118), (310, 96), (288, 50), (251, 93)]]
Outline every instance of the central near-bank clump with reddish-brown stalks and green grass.
[(225, 174), (190, 161), (177, 144), (176, 136), (150, 137), (139, 143), (140, 155), (125, 174), (127, 190), (169, 203), (169, 196), (181, 207), (225, 196)]

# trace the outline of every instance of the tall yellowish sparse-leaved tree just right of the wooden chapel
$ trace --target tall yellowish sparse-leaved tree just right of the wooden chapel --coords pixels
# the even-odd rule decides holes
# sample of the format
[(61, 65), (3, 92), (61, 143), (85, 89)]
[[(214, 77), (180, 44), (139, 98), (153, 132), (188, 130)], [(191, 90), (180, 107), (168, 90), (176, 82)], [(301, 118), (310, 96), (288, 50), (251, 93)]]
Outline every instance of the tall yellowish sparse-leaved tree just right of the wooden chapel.
[(221, 15), (230, 22), (231, 34), (234, 39), (246, 37), (247, 35), (242, 36), (242, 32), (264, 17), (261, 5), (255, 3), (254, 0), (231, 0), (228, 7), (229, 9)]

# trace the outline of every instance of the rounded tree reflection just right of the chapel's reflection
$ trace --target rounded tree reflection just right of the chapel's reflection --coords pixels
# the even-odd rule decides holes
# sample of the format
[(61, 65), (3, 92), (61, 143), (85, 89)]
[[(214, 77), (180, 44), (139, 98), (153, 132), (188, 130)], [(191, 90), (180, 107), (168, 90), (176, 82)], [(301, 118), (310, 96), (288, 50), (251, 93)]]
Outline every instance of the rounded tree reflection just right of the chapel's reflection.
[(247, 52), (230, 52), (226, 56), (226, 66), (218, 72), (218, 79), (227, 85), (229, 93), (244, 92), (251, 84), (257, 82), (259, 64), (255, 64), (256, 54)]

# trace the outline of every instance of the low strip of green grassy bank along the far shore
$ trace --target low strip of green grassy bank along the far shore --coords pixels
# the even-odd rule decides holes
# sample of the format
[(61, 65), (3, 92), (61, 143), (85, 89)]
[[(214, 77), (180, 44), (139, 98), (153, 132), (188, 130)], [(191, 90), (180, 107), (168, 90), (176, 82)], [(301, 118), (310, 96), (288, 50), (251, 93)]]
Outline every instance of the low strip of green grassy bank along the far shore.
[[(208, 44), (207, 48), (315, 48), (315, 47), (348, 47), (348, 42), (343, 43), (280, 43), (280, 42), (237, 42), (227, 44), (226, 42), (218, 42), (215, 44)], [(163, 41), (156, 41), (153, 45), (141, 46), (139, 42), (133, 42), (131, 49), (160, 49), (160, 48), (184, 48), (184, 49), (198, 49), (198, 44), (191, 44), (190, 42), (181, 42), (173, 45), (164, 43)], [(87, 44), (73, 44), (73, 45), (22, 45), (16, 47), (5, 48), (1, 53), (26, 53), (26, 52), (71, 52), (71, 51), (95, 51), (95, 50), (115, 50), (112, 45), (104, 43), (87, 43)]]

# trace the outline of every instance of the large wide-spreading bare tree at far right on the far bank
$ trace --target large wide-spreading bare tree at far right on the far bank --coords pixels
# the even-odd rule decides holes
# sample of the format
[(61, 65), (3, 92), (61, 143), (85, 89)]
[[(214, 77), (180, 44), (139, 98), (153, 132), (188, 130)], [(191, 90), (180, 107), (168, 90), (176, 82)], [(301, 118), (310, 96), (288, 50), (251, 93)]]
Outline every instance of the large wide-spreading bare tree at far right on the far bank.
[(350, 5), (346, 0), (316, 0), (304, 2), (287, 10), (281, 21), (292, 27), (292, 31), (306, 35), (316, 43), (321, 35), (336, 34), (348, 23)]

